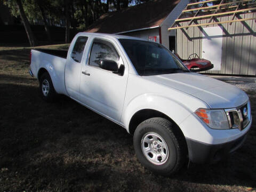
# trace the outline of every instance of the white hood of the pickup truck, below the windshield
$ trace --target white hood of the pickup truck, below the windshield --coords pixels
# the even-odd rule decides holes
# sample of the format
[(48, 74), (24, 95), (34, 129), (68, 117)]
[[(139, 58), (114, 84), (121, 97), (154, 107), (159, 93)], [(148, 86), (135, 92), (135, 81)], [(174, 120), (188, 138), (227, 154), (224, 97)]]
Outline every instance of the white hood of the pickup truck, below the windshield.
[(175, 73), (143, 76), (159, 84), (193, 95), (206, 102), (210, 108), (234, 108), (249, 98), (237, 87), (197, 73)]

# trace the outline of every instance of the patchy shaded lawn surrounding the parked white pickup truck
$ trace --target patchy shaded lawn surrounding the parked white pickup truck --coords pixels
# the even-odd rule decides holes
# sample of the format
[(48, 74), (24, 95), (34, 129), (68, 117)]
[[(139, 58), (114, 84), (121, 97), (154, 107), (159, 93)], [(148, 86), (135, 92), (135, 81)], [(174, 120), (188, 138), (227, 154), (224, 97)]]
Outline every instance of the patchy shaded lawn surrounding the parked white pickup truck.
[[(0, 47), (0, 191), (255, 191), (255, 123), (243, 147), (218, 164), (155, 175), (122, 127), (65, 96), (40, 99), (29, 52)], [(256, 90), (245, 91), (255, 122)]]

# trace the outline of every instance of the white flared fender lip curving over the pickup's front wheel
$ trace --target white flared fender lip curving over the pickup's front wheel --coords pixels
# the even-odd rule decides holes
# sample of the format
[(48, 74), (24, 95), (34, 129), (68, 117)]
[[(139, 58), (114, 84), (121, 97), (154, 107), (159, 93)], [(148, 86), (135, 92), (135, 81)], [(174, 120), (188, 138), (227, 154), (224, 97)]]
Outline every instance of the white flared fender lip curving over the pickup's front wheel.
[[(198, 106), (202, 106), (201, 101), (197, 102), (198, 104), (201, 103), (201, 105)], [(129, 132), (129, 123), (132, 116), (142, 109), (157, 110), (170, 117), (177, 125), (182, 123), (191, 113), (194, 112), (186, 107), (185, 103), (177, 102), (177, 100), (173, 100), (172, 98), (167, 98), (162, 95), (149, 93), (141, 94), (138, 95), (138, 97), (133, 98), (124, 109), (121, 122), (124, 123), (124, 127), (127, 132)], [(186, 137), (187, 130), (182, 129), (181, 131)]]

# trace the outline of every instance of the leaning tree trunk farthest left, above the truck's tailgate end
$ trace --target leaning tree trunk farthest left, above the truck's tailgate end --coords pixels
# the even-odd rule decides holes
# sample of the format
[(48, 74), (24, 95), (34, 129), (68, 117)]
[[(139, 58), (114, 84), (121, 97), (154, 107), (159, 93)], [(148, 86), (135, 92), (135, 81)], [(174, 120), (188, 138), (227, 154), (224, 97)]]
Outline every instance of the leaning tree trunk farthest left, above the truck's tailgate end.
[(27, 33), (27, 36), (28, 36), (28, 40), (29, 40), (29, 43), (30, 43), (30, 46), (36, 46), (37, 45), (37, 41), (36, 41), (36, 38), (30, 28), (30, 25), (29, 25), (29, 22), (28, 22), (28, 19), (26, 17), (26, 14), (23, 10), (23, 6), (22, 6), (22, 3), (21, 3), (21, 0), (16, 0), (16, 3), (18, 5), (18, 9), (19, 9), (19, 12), (20, 12), (20, 17), (21, 17), (21, 20), (23, 22), (23, 25), (25, 27), (25, 30), (26, 30), (26, 33)]

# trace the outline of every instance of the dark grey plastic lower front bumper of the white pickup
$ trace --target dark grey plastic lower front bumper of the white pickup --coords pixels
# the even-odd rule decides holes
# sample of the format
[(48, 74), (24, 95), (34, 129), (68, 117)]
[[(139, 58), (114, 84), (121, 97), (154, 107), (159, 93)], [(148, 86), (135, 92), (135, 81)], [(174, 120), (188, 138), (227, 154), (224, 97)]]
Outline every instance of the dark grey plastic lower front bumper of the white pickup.
[(246, 140), (247, 133), (233, 141), (211, 145), (186, 138), (189, 159), (193, 163), (215, 163), (233, 153)]

